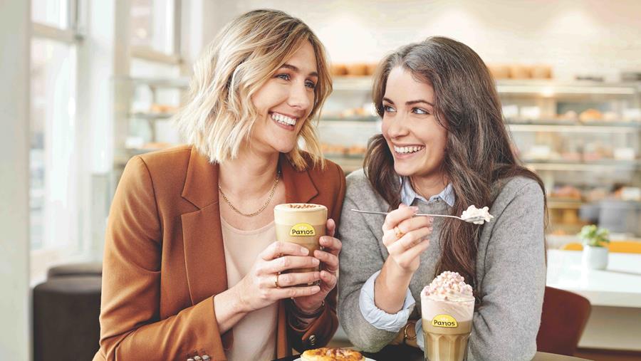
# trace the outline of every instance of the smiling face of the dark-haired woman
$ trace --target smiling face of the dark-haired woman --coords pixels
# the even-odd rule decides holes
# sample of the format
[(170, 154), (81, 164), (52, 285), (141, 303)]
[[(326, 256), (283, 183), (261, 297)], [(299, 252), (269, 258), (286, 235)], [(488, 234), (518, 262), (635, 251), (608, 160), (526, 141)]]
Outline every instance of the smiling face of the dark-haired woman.
[(434, 88), (412, 78), (410, 70), (393, 68), (387, 78), (382, 135), (394, 156), (394, 170), (408, 177), (439, 182), (447, 130), (434, 116)]

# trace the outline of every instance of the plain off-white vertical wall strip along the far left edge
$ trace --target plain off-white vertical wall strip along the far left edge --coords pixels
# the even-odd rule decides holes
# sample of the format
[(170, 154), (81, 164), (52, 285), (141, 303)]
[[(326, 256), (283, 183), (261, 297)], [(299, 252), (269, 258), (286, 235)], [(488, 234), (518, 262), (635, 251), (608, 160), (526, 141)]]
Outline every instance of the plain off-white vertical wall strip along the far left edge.
[[(29, 1), (0, 1), (0, 360), (31, 357)], [(11, 56), (6, 52), (11, 52)]]

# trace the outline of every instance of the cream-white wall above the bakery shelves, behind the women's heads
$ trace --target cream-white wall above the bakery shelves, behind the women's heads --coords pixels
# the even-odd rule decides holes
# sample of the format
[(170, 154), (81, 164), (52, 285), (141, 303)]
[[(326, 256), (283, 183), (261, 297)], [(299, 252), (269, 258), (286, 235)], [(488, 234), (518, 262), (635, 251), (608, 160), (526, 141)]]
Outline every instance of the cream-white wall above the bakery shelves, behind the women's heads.
[(550, 64), (556, 78), (617, 80), (620, 70), (641, 70), (637, 0), (204, 1), (216, 9), (203, 14), (209, 33), (245, 11), (280, 9), (306, 21), (337, 62), (377, 61), (405, 43), (440, 35), (471, 46), (486, 63)]

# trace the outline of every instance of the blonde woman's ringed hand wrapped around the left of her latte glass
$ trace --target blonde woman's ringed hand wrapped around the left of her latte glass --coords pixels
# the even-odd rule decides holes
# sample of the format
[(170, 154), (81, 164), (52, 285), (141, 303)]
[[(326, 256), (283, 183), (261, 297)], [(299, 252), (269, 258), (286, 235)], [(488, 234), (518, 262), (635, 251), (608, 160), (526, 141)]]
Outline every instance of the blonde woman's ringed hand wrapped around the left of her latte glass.
[[(317, 258), (307, 248), (288, 242), (274, 242), (262, 251), (254, 266), (241, 279), (237, 288), (242, 310), (246, 313), (265, 308), (283, 298), (316, 295), (319, 286), (295, 286), (316, 282), (320, 272), (286, 273), (291, 268), (313, 268)], [(323, 296), (324, 297), (324, 296)]]

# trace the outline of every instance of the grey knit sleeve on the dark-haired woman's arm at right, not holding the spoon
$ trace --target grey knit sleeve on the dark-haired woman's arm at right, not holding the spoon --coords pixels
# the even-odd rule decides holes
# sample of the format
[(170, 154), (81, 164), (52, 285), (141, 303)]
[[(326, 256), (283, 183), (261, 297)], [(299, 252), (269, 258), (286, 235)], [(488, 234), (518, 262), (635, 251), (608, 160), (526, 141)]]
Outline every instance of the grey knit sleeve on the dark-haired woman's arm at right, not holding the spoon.
[(506, 206), (494, 214), (487, 244), (471, 360), (531, 360), (536, 353), (546, 286), (543, 192), (528, 180), (501, 193), (497, 201)]

